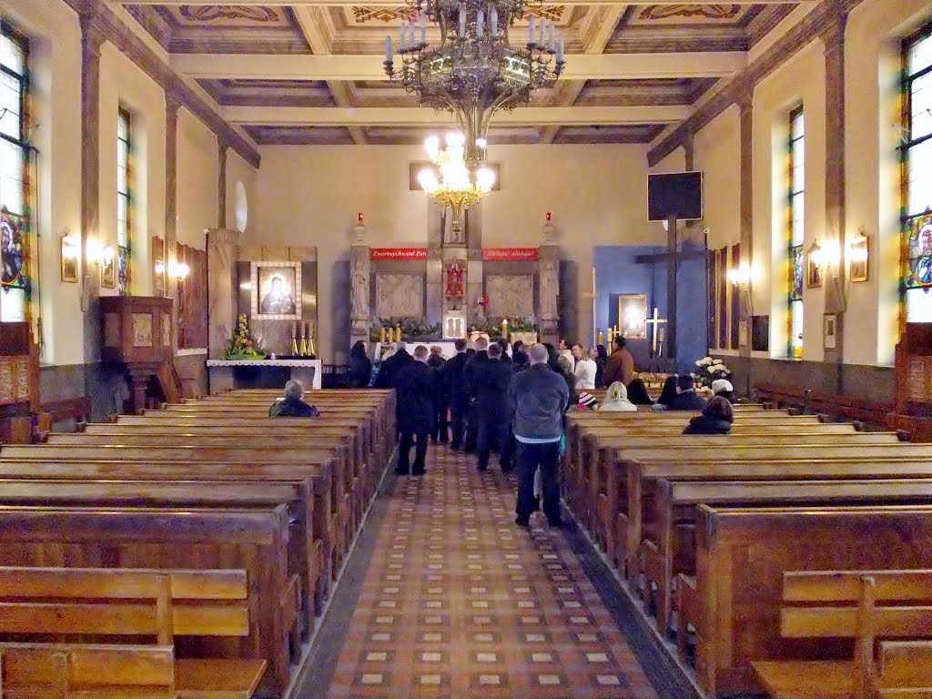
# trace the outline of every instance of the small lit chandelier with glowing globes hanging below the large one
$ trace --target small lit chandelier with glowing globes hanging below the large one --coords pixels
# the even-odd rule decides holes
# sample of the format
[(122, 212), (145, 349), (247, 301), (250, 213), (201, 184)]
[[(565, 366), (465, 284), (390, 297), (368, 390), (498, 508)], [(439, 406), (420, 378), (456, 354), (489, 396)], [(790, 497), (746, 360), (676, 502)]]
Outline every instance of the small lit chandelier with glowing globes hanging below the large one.
[[(440, 148), (440, 139), (429, 136), (424, 141), (427, 157), (440, 171), (425, 168), (418, 173), (418, 182), (425, 192), (453, 214), (451, 231), (453, 241), (462, 243), (463, 212), (471, 204), (483, 199), (495, 185), (495, 172), (487, 167), (474, 167), (466, 162), (466, 137), (457, 131), (446, 134), (446, 147)], [(485, 149), (485, 144), (482, 144)]]

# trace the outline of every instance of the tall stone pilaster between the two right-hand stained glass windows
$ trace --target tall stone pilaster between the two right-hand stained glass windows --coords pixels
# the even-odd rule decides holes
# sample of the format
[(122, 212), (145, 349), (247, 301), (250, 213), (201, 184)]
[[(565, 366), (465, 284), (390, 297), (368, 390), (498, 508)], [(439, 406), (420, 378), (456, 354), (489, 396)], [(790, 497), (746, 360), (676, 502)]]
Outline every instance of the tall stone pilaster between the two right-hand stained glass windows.
[[(844, 29), (847, 12), (839, 7), (831, 23), (820, 34), (825, 45), (825, 204), (826, 235), (829, 244), (837, 244), (840, 253), (837, 269), (826, 274), (825, 312), (836, 315), (835, 349), (825, 350), (825, 361), (837, 363), (838, 392), (843, 392), (845, 286), (845, 187), (844, 187)], [(823, 243), (824, 244), (824, 243)]]

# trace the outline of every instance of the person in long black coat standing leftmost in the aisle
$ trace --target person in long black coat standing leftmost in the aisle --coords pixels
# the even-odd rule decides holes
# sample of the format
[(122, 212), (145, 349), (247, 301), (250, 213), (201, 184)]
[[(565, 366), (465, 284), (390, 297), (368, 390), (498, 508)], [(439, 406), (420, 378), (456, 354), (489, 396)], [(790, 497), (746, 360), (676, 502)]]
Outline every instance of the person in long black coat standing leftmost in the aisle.
[[(398, 401), (398, 465), (395, 473), (423, 475), (427, 459), (427, 440), (433, 423), (433, 374), (427, 365), (427, 348), (418, 345), (414, 359), (406, 363), (394, 378)], [(409, 457), (415, 447), (414, 463)]]

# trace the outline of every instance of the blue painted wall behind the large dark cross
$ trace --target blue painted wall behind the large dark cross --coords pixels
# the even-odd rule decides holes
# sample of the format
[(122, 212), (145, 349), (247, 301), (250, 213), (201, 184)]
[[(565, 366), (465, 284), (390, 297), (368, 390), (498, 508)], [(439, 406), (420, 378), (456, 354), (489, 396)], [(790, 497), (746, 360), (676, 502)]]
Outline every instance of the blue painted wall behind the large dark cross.
[[(690, 248), (686, 248), (689, 250)], [(666, 265), (638, 265), (635, 258), (644, 254), (664, 253), (665, 247), (646, 245), (596, 246), (596, 324), (601, 332), (618, 324), (618, 297), (626, 294), (647, 295), (648, 316), (658, 308), (667, 318)], [(706, 262), (702, 259), (678, 262), (678, 338), (676, 364), (680, 372), (692, 371), (692, 365), (706, 356)], [(663, 326), (662, 326), (663, 327)], [(589, 330), (587, 335), (591, 334)], [(667, 331), (669, 333), (669, 331)], [(652, 330), (646, 340), (628, 340), (638, 369), (656, 369), (651, 365)], [(588, 338), (587, 338), (588, 339)], [(669, 360), (667, 359), (668, 363)]]

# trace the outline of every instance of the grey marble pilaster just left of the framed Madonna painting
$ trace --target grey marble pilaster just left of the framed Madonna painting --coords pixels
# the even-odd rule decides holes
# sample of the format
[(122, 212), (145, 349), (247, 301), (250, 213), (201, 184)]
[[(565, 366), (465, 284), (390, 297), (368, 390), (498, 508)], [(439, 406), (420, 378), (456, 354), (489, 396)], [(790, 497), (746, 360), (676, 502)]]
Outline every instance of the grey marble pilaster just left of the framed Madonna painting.
[[(240, 231), (216, 228), (207, 231), (208, 357), (219, 359), (236, 325), (236, 263), (240, 256)], [(216, 392), (218, 387), (211, 386)]]

